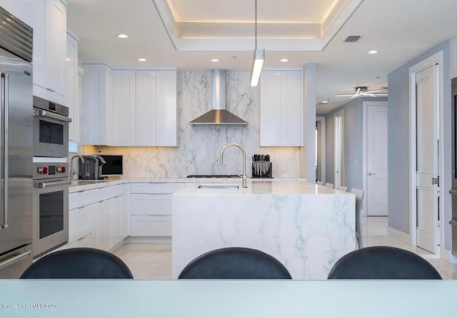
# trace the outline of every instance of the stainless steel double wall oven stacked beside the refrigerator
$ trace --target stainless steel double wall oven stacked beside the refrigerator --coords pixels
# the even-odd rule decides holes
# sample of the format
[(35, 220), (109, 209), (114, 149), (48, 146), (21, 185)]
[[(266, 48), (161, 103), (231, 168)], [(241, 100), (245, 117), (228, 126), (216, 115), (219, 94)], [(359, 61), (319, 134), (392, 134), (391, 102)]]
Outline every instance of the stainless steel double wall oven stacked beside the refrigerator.
[(34, 96), (34, 257), (69, 240), (69, 108)]

